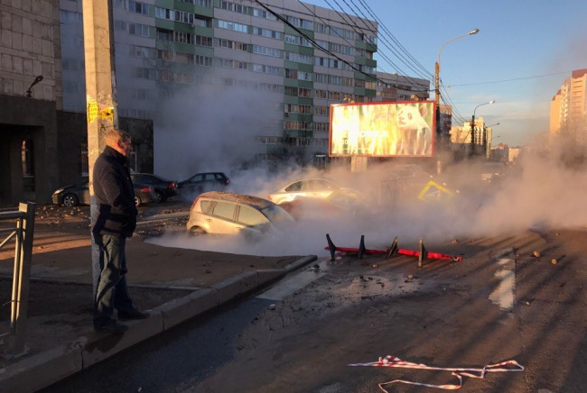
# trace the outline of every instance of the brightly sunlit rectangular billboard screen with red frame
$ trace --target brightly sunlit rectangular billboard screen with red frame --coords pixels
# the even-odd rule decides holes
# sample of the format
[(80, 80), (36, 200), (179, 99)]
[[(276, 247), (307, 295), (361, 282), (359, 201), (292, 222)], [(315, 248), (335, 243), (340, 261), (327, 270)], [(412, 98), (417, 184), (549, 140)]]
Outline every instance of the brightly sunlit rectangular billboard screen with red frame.
[(434, 102), (331, 105), (331, 157), (432, 157)]

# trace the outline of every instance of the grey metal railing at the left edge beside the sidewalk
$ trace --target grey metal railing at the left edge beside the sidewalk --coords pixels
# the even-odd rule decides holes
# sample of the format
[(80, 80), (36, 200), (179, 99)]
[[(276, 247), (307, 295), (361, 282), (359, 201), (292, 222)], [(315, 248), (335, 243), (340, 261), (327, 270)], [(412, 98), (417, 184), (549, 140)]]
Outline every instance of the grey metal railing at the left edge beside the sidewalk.
[(0, 249), (7, 242), (15, 240), (10, 331), (2, 335), (8, 336), (8, 348), (5, 353), (7, 357), (18, 357), (26, 352), (24, 334), (29, 304), (31, 260), (33, 259), (34, 210), (35, 204), (27, 202), (19, 204), (17, 211), (0, 212), (0, 221), (16, 220), (15, 229), (0, 229), (0, 234), (9, 233), (5, 240), (0, 242)]

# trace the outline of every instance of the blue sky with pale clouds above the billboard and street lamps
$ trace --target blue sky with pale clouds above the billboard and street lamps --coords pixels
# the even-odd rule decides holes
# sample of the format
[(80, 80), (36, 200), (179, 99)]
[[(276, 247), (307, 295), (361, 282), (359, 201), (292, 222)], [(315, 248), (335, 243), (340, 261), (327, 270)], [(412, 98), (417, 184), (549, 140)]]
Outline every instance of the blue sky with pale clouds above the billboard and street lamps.
[[(433, 75), (444, 42), (480, 29), (476, 35), (444, 46), (440, 76), (459, 118), (470, 121), (477, 105), (496, 100), (475, 112), (488, 125), (499, 123), (493, 127), (494, 145), (522, 145), (531, 142), (536, 133), (547, 132), (551, 99), (573, 69), (587, 69), (587, 0), (305, 3), (370, 19), (375, 19), (371, 14), (376, 15), (388, 32), (379, 26), (377, 51), (383, 55), (376, 57), (377, 69), (418, 78), (422, 76), (394, 53), (394, 38)], [(396, 51), (409, 59), (403, 51)], [(433, 78), (430, 80), (433, 88)]]

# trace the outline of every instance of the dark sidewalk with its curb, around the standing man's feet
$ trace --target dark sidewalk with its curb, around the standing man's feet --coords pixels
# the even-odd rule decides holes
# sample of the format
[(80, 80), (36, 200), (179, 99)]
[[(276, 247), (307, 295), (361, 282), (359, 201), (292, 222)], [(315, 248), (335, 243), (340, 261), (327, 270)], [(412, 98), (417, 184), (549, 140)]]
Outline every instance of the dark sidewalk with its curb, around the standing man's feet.
[[(161, 223), (140, 224), (127, 242), (127, 280), (135, 306), (151, 315), (126, 322), (125, 334), (95, 333), (89, 208), (74, 208), (67, 215), (45, 212), (42, 206), (37, 210), (27, 352), (0, 358), (0, 391), (47, 387), (316, 260), (166, 248), (143, 242), (145, 235), (162, 230), (154, 227)], [(9, 329), (13, 265), (14, 246), (7, 244), (0, 249), (0, 333)], [(6, 341), (6, 336), (0, 339), (2, 354)]]

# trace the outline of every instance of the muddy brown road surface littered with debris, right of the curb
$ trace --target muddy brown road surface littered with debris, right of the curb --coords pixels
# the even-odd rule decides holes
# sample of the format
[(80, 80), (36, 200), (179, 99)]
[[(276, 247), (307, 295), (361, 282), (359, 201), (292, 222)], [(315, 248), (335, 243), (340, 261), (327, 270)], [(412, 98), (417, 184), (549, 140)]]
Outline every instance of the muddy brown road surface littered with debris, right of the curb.
[(198, 391), (372, 392), (392, 379), (458, 384), (449, 371), (347, 366), (386, 355), (441, 368), (508, 360), (526, 368), (464, 377), (461, 391), (582, 391), (585, 239), (584, 231), (528, 231), (460, 242), (446, 251), (461, 253), (462, 262), (422, 269), (409, 257), (345, 256), (256, 315), (235, 343), (234, 361)]

